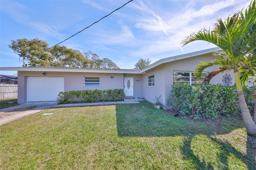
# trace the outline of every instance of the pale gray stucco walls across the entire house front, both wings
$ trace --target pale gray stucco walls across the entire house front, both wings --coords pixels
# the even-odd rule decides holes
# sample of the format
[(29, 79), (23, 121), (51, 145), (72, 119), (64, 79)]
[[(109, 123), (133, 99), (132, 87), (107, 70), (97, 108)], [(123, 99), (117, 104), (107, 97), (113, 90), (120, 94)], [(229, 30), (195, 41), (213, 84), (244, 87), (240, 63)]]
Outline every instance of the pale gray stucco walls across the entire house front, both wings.
[[(123, 74), (123, 73), (77, 73), (77, 72), (47, 72), (46, 77), (64, 77), (64, 91), (71, 90), (106, 90), (106, 89), (124, 89), (124, 77), (133, 77), (134, 97), (144, 97), (147, 101), (154, 103), (154, 98), (160, 97), (160, 102), (166, 105), (166, 100), (170, 96), (173, 85), (173, 71), (194, 71), (200, 61), (211, 61), (214, 59), (212, 54), (204, 54), (196, 57), (172, 61), (158, 65), (141, 74)], [(205, 71), (212, 71), (214, 68), (208, 68)], [(148, 87), (148, 75), (154, 74), (154, 87)], [(223, 84), (223, 75), (230, 74), (232, 85), (234, 85), (234, 73), (217, 75), (210, 81), (211, 84)], [(44, 77), (42, 71), (18, 71), (18, 103), (27, 102), (27, 77)], [(84, 87), (84, 76), (100, 76), (100, 87)], [(114, 78), (110, 78), (114, 77)]]

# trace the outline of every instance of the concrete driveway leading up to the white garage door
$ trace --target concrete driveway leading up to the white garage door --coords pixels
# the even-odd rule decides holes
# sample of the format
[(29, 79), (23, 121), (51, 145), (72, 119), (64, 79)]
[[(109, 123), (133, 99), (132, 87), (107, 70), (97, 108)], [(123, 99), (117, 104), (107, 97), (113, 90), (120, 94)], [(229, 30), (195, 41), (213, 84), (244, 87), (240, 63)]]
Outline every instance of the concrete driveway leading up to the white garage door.
[(8, 108), (4, 108), (4, 109), (0, 109), (0, 113), (1, 112), (12, 112), (12, 111), (18, 111), (19, 109), (24, 109), (27, 107), (32, 107), (32, 106), (36, 106), (34, 109), (28, 110), (28, 111), (18, 111), (18, 113), (14, 114), (14, 115), (10, 115), (10, 116), (6, 116), (0, 119), (0, 125), (4, 125), (5, 123), (20, 119), (22, 117), (28, 116), (28, 115), (32, 115), (34, 113), (40, 112), (44, 109), (49, 109), (51, 107), (54, 107), (58, 105), (58, 103), (56, 101), (45, 101), (45, 102), (29, 102), (29, 103), (24, 103), (21, 105), (17, 105), (14, 107), (8, 107)]

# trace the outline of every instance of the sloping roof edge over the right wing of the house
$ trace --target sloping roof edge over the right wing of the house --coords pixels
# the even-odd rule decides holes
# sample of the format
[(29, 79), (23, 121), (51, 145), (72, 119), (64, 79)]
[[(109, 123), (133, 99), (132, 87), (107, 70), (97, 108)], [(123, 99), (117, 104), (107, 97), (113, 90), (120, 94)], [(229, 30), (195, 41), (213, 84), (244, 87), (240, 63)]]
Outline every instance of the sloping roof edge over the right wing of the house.
[(164, 64), (164, 63), (168, 63), (168, 62), (172, 62), (172, 61), (177, 61), (177, 60), (180, 60), (180, 59), (186, 59), (186, 58), (190, 58), (190, 57), (195, 57), (195, 56), (198, 56), (198, 55), (212, 53), (212, 52), (220, 51), (220, 50), (221, 49), (219, 47), (214, 47), (214, 48), (205, 49), (205, 50), (202, 50), (202, 51), (196, 51), (196, 52), (192, 52), (192, 53), (176, 55), (176, 56), (168, 57), (168, 58), (163, 58), (163, 59), (160, 59), (160, 60), (154, 62), (153, 64), (149, 65), (148, 67), (142, 69), (140, 71), (140, 73), (148, 71), (149, 69), (152, 69), (152, 68), (154, 68), (154, 67), (156, 67), (158, 65)]

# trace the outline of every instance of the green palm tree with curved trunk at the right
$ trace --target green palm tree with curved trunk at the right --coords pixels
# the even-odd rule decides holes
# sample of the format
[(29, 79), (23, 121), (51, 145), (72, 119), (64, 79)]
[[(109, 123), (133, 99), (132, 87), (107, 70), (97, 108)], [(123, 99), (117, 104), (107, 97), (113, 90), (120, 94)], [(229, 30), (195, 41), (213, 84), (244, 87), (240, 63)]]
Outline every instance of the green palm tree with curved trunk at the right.
[[(219, 19), (214, 24), (213, 30), (203, 29), (198, 33), (192, 33), (182, 41), (182, 46), (196, 41), (204, 40), (217, 45), (222, 51), (215, 53), (216, 59), (210, 63), (201, 62), (195, 70), (198, 79), (202, 71), (211, 66), (218, 66), (206, 77), (209, 82), (218, 73), (233, 70), (235, 75), (236, 89), (242, 117), (249, 135), (256, 136), (256, 125), (252, 120), (248, 106), (244, 99), (242, 84), (249, 75), (256, 70), (256, 1), (253, 0), (248, 9), (237, 12), (225, 21)], [(240, 78), (241, 77), (241, 78)]]

